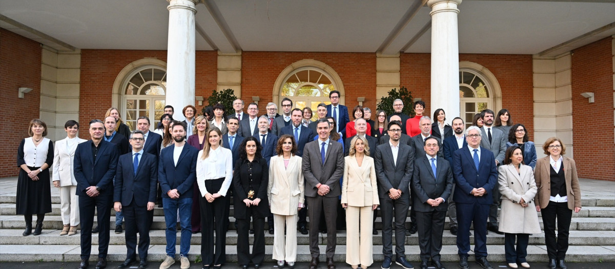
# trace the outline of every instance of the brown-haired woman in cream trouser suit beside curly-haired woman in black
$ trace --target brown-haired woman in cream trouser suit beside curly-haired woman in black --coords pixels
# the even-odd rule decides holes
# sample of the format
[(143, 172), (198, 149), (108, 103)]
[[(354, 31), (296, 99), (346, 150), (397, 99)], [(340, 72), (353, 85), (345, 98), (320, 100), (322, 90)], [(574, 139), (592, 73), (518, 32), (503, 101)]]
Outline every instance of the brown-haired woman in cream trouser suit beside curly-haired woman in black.
[[(304, 208), (303, 173), (301, 157), (295, 155), (297, 144), (293, 136), (283, 135), (277, 141), (277, 155), (269, 160), (267, 194), (273, 214), (273, 259), (277, 267), (295, 268), (297, 257), (297, 212)], [(284, 238), (284, 227), (287, 235)]]

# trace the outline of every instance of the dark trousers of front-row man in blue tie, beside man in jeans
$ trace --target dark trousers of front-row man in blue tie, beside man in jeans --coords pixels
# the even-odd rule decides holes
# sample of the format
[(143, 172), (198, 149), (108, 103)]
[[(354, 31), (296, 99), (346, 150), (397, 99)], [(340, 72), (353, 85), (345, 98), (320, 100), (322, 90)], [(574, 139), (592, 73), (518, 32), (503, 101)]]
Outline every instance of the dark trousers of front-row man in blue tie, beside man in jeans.
[(139, 259), (148, 259), (149, 227), (152, 225), (154, 211), (145, 206), (137, 206), (135, 200), (130, 205), (122, 206), (126, 238), (126, 259), (137, 257), (137, 232), (139, 233)]

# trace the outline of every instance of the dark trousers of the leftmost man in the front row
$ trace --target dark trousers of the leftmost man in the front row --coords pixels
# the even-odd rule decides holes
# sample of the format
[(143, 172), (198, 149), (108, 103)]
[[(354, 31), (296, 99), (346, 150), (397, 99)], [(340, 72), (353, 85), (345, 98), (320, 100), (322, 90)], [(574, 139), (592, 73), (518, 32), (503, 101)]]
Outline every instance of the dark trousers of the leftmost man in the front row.
[(98, 211), (98, 257), (106, 258), (109, 249), (109, 220), (111, 219), (113, 197), (79, 196), (79, 220), (81, 222), (81, 259), (90, 259), (92, 252), (92, 225), (94, 224), (94, 209)]

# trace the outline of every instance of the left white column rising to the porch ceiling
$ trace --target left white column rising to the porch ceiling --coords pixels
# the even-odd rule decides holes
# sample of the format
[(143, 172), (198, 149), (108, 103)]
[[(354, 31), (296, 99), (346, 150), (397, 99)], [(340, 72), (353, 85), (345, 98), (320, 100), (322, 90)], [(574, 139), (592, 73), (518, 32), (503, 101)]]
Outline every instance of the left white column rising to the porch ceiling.
[(169, 45), (167, 46), (167, 99), (173, 119), (184, 120), (181, 109), (194, 106), (194, 14), (198, 0), (167, 0)]

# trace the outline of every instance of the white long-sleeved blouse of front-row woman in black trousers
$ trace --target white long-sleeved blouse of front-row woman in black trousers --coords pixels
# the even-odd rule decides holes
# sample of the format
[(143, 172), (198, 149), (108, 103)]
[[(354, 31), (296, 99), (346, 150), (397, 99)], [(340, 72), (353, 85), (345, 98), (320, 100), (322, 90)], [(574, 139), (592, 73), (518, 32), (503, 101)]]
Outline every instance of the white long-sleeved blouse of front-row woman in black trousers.
[(209, 156), (203, 160), (203, 150), (199, 151), (196, 161), (196, 180), (199, 184), (200, 195), (209, 193), (205, 187), (205, 181), (224, 177), (218, 194), (226, 196), (232, 179), (232, 152), (225, 147), (210, 149)]

